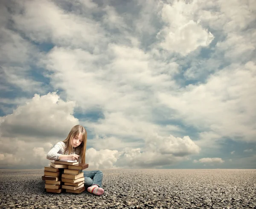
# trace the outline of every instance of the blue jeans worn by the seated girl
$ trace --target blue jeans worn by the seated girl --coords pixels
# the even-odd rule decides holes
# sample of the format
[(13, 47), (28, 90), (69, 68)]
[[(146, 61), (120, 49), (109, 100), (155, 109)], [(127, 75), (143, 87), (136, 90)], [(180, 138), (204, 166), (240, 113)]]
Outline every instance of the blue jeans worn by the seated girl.
[(93, 184), (102, 187), (103, 173), (100, 170), (88, 170), (84, 172), (84, 186), (89, 187)]

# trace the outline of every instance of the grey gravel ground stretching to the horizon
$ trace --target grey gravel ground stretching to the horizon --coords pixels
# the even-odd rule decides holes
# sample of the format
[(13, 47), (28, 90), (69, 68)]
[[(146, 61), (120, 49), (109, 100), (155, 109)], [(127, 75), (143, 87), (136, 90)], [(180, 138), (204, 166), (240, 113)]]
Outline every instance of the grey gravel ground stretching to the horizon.
[[(88, 169), (89, 170), (89, 169)], [(0, 169), (0, 208), (253, 208), (256, 169), (102, 169), (105, 193), (44, 191), (40, 170)]]

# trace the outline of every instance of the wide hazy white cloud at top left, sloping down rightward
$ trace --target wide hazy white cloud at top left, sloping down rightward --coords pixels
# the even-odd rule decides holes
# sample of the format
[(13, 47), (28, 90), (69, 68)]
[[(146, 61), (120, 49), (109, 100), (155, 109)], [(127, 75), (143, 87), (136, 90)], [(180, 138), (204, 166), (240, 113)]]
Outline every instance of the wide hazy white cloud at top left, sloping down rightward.
[[(94, 48), (104, 39), (99, 23), (61, 10), (49, 0), (18, 2), (20, 11), (12, 19), (16, 27), (37, 42)], [(37, 8), (37, 9), (35, 9)], [(47, 11), (47, 13), (45, 12)]]

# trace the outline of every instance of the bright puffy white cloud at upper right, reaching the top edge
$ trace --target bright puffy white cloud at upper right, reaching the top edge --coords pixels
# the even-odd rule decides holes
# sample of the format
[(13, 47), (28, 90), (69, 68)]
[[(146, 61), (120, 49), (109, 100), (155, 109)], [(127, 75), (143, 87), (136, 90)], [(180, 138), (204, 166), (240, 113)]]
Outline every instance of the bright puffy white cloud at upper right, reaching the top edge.
[(193, 3), (174, 1), (172, 5), (165, 4), (161, 16), (167, 23), (158, 34), (164, 41), (160, 46), (170, 52), (177, 52), (186, 56), (199, 46), (207, 47), (214, 36), (200, 25), (200, 21), (193, 20)]

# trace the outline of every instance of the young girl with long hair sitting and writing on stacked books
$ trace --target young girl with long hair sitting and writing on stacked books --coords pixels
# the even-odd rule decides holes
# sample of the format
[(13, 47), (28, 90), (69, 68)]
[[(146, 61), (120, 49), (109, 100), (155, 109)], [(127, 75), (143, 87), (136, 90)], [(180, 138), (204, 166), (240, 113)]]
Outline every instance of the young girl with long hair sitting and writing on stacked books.
[[(85, 163), (87, 131), (81, 125), (74, 126), (64, 141), (59, 141), (47, 154), (48, 160), (77, 160)], [(103, 173), (99, 170), (84, 171), (84, 186), (95, 195), (102, 195)]]

